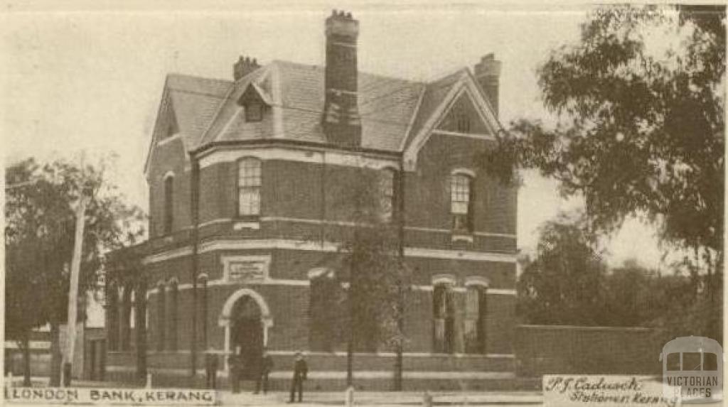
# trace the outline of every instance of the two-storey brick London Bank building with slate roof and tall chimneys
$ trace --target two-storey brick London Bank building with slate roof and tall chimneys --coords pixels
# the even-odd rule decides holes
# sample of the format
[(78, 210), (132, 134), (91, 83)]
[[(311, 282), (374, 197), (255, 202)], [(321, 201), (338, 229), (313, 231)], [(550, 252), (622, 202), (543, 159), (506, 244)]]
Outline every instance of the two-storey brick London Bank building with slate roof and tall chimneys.
[[(427, 82), (363, 73), (358, 31), (349, 14), (325, 20), (324, 66), (241, 57), (232, 80), (167, 76), (144, 169), (149, 241), (135, 248), (146, 288), (109, 290), (109, 376), (144, 347), (157, 383), (189, 374), (194, 344), (265, 346), (274, 379), (305, 350), (315, 387), (343, 382), (344, 348), (315, 343), (312, 303), (317, 279), (341, 271), (325, 259), (353, 223), (336, 203), (363, 170), (403, 216), (405, 387), (513, 374), (516, 191), (477, 161), (500, 129), (500, 63)], [(357, 384), (389, 387), (393, 357), (357, 353)]]

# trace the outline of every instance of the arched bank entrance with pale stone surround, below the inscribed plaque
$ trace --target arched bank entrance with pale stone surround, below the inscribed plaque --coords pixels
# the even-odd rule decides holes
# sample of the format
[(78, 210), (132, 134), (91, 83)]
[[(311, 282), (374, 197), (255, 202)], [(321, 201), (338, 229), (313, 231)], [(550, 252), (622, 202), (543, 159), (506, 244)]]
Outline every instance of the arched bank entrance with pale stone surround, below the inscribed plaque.
[[(241, 347), (243, 357), (258, 358), (268, 344), (268, 329), (273, 326), (265, 299), (251, 289), (235, 291), (223, 305), (218, 325), (225, 329), (225, 353)], [(228, 358), (225, 371), (229, 372)]]

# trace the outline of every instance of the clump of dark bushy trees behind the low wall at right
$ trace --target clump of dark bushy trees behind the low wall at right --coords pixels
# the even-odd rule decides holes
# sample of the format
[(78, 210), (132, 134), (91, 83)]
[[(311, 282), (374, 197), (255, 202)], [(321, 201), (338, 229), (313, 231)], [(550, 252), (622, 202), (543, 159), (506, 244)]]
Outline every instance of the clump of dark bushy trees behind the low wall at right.
[(562, 214), (545, 222), (537, 257), (524, 263), (518, 281), (518, 313), (526, 323), (676, 328), (668, 336), (692, 327), (693, 335), (705, 333), (700, 322), (705, 325), (705, 318), (680, 325), (687, 322), (680, 310), (697, 314), (692, 308), (700, 284), (678, 265), (671, 275), (660, 275), (636, 260), (609, 269), (596, 245), (583, 218), (574, 221)]

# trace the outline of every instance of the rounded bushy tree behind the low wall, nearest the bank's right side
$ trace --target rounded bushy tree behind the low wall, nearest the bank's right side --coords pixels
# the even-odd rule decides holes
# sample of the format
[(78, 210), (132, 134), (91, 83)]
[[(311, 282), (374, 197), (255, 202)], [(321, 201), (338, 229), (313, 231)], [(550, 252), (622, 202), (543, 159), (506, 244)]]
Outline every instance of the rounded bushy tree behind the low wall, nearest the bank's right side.
[(583, 225), (561, 215), (540, 229), (537, 257), (518, 280), (526, 323), (601, 325), (606, 265)]

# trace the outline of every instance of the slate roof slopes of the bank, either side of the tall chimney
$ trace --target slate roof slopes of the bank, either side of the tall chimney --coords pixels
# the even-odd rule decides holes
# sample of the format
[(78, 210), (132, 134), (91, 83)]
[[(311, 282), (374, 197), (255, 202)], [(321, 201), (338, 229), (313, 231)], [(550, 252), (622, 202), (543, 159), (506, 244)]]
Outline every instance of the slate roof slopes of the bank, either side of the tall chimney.
[[(405, 139), (422, 128), (463, 72), (430, 83), (360, 72), (362, 147), (400, 151), (407, 144)], [(270, 121), (245, 122), (237, 100), (251, 81), (264, 100), (280, 108), (282, 132), (276, 132)], [(170, 74), (165, 89), (187, 150), (229, 140), (326, 142), (320, 126), (324, 104), (324, 68), (320, 66), (273, 61), (238, 81)]]

